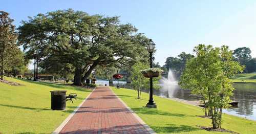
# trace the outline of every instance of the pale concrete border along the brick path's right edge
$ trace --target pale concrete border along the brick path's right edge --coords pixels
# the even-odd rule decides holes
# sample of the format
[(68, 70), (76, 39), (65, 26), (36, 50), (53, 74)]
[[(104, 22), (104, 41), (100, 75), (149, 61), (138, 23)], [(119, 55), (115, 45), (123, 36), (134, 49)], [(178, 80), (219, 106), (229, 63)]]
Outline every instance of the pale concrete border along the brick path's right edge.
[[(109, 87), (109, 86), (108, 86), (108, 87)], [(109, 88), (110, 88), (110, 87), (109, 87)], [(156, 132), (155, 132), (152, 128), (150, 128), (150, 126), (148, 126), (148, 125), (147, 125), (147, 124), (129, 107), (129, 106), (127, 106), (127, 104), (124, 103), (123, 100), (120, 99), (120, 98), (112, 91), (111, 88), (110, 88), (110, 90), (111, 90), (111, 92), (118, 98), (118, 100), (121, 101), (122, 104), (123, 104), (127, 109), (129, 109), (129, 111), (131, 111), (131, 113), (133, 114), (133, 116), (143, 125), (143, 127), (146, 128), (146, 130), (147, 130), (148, 132), (150, 132), (151, 134), (156, 134)]]

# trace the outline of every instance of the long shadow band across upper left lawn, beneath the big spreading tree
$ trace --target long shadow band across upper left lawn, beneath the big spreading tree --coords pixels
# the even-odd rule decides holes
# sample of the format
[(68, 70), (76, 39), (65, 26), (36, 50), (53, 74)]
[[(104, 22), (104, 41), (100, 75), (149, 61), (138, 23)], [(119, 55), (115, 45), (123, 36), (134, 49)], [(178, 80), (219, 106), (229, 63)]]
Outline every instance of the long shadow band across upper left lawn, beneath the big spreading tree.
[(75, 90), (75, 91), (82, 91), (82, 92), (91, 92), (85, 88), (81, 88), (81, 87), (75, 87), (75, 86), (71, 86), (71, 85), (65, 85), (65, 84), (56, 84), (56, 83), (51, 83), (51, 82), (38, 82), (38, 81), (31, 81), (31, 80), (24, 80), (24, 79), (18, 79), (18, 80), (22, 80), (22, 81), (26, 81), (29, 83), (33, 83), (33, 84), (40, 84), (40, 85), (46, 85), (46, 86), (50, 86), (50, 87), (54, 87), (54, 88), (60, 88), (63, 90)]

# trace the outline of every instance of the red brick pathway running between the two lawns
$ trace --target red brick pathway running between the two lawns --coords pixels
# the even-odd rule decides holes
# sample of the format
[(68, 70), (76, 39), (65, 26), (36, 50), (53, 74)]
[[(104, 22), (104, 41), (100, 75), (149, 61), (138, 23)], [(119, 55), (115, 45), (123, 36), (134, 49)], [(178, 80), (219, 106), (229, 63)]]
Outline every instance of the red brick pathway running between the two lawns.
[(109, 87), (97, 87), (60, 133), (150, 133)]

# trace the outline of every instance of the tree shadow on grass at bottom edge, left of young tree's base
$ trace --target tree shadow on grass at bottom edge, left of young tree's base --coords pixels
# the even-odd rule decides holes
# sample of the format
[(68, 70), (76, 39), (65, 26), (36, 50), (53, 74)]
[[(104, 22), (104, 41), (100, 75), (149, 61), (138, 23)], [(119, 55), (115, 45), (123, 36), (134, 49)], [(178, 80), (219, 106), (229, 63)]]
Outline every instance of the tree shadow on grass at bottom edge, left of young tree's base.
[(188, 125), (180, 125), (177, 126), (175, 124), (167, 124), (167, 126), (151, 126), (151, 128), (155, 132), (163, 132), (163, 133), (179, 133), (179, 132), (189, 132), (189, 131), (196, 131), (201, 130), (197, 127), (192, 127)]

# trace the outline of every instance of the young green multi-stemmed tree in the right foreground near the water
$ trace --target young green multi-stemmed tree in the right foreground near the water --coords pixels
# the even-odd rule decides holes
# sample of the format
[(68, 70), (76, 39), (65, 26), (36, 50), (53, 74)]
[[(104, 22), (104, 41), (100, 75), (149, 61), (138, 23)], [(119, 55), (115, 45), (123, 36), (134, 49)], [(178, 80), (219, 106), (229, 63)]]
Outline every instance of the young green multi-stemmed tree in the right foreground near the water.
[(229, 78), (242, 72), (244, 66), (233, 61), (227, 46), (212, 48), (199, 44), (194, 52), (196, 57), (186, 64), (179, 84), (208, 101), (212, 127), (221, 128), (222, 109), (229, 106), (229, 96), (234, 90)]

